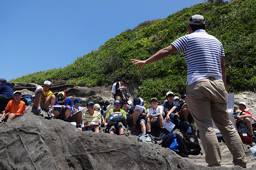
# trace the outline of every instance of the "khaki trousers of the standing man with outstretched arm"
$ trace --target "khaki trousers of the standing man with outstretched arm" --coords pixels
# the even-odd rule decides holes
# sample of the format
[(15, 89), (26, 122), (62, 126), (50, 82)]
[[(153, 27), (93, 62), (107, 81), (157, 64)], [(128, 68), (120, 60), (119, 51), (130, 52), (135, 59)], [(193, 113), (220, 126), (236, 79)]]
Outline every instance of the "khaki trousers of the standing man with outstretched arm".
[(227, 91), (221, 80), (209, 77), (186, 87), (188, 109), (192, 114), (205, 151), (209, 167), (221, 166), (221, 152), (218, 139), (212, 128), (212, 120), (221, 131), (228, 149), (233, 155), (233, 163), (246, 166), (244, 146), (239, 134), (229, 119)]

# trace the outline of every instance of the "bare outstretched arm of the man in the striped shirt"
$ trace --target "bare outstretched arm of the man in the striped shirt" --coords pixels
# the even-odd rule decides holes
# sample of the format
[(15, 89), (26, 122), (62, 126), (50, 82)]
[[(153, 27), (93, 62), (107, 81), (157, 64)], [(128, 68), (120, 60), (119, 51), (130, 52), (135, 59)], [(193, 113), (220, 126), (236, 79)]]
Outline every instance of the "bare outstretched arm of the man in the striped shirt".
[(156, 54), (154, 54), (153, 56), (149, 57), (146, 60), (137, 60), (137, 59), (131, 59), (131, 62), (134, 64), (137, 64), (137, 70), (141, 67), (143, 67), (146, 64), (149, 64), (151, 62), (156, 62), (160, 59), (163, 59), (173, 53), (177, 53), (177, 49), (175, 48), (175, 46), (170, 45), (169, 47), (163, 48), (160, 51), (158, 51)]

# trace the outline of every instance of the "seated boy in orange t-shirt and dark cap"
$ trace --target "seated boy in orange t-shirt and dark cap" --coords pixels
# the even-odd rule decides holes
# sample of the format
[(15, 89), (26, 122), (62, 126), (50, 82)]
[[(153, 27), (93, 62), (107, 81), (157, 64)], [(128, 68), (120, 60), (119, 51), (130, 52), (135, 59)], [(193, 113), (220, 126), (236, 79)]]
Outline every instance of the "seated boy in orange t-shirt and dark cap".
[(5, 116), (6, 122), (11, 121), (12, 119), (15, 119), (16, 117), (22, 116), (24, 114), (24, 111), (26, 110), (25, 102), (21, 101), (21, 92), (15, 91), (13, 93), (13, 98), (7, 103), (6, 109), (3, 112), (3, 115), (1, 117), (1, 120), (3, 120), (3, 117)]

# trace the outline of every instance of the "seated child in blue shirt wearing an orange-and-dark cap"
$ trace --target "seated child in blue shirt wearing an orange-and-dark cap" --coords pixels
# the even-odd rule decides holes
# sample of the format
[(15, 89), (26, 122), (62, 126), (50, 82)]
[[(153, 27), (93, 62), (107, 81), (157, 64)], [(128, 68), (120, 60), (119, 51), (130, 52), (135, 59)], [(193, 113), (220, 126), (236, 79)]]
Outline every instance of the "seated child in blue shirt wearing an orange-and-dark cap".
[(61, 119), (65, 122), (70, 122), (70, 115), (72, 113), (73, 102), (72, 99), (66, 97), (66, 93), (61, 91), (57, 95), (57, 99), (54, 105), (60, 105), (61, 107), (54, 107), (53, 113), (55, 119)]

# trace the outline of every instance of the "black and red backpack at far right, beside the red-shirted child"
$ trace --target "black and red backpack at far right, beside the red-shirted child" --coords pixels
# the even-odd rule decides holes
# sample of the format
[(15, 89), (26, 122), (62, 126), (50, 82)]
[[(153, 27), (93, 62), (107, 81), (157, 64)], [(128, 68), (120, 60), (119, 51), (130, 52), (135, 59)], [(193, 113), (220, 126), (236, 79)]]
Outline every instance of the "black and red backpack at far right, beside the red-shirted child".
[(252, 143), (253, 139), (250, 136), (249, 128), (242, 121), (236, 122), (237, 131), (243, 143)]

